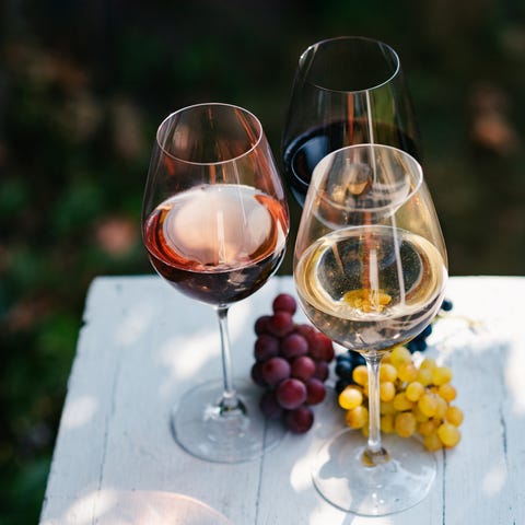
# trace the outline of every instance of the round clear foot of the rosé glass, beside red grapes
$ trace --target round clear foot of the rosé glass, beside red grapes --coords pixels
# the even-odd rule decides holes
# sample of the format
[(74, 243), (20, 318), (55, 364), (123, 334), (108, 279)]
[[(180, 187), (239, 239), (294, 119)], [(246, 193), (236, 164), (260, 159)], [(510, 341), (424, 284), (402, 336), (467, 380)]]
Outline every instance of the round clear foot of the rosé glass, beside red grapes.
[(222, 381), (209, 382), (187, 392), (172, 412), (177, 443), (189, 454), (217, 463), (241, 463), (273, 448), (285, 431), (282, 421), (267, 420), (260, 412), (260, 390), (238, 382), (238, 409), (220, 405)]

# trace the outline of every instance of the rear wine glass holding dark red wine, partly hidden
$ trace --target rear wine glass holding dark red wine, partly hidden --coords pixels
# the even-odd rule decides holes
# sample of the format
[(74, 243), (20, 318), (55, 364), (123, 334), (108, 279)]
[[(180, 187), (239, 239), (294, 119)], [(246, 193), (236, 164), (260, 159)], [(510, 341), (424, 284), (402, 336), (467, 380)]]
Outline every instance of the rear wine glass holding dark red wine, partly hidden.
[(318, 42), (299, 60), (282, 135), (284, 174), (295, 200), (304, 203), (312, 172), (326, 154), (358, 143), (393, 145), (421, 161), (399, 57), (372, 38)]

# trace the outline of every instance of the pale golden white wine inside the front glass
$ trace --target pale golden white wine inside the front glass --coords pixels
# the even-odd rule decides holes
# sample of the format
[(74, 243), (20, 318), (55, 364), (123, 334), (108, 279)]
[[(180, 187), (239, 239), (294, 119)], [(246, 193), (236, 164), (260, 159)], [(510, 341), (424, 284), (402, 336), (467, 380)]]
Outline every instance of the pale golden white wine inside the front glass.
[(425, 238), (390, 226), (329, 233), (295, 268), (312, 323), (358, 352), (386, 351), (416, 337), (441, 306), (445, 261)]

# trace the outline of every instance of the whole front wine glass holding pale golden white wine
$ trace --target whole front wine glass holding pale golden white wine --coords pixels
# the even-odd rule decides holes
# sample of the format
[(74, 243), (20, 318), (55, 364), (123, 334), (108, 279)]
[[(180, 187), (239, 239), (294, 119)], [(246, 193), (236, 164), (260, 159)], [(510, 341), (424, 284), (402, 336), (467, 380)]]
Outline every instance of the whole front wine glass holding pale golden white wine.
[(369, 438), (343, 430), (316, 456), (313, 479), (332, 504), (363, 515), (408, 509), (428, 493), (435, 459), (420, 441), (380, 430), (380, 362), (440, 308), (446, 250), (422, 170), (380, 144), (329, 153), (314, 170), (294, 254), (301, 306), (330, 339), (361, 353)]

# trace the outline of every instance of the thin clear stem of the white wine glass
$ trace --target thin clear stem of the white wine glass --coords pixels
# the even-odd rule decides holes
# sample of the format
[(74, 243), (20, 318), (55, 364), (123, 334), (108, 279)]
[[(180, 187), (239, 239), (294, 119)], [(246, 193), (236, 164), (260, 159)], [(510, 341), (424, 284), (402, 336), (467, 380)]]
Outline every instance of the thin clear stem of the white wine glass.
[(381, 443), (380, 364), (382, 357), (380, 353), (364, 354), (369, 373), (369, 440), (363, 463), (368, 466), (375, 466), (388, 459)]

